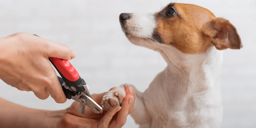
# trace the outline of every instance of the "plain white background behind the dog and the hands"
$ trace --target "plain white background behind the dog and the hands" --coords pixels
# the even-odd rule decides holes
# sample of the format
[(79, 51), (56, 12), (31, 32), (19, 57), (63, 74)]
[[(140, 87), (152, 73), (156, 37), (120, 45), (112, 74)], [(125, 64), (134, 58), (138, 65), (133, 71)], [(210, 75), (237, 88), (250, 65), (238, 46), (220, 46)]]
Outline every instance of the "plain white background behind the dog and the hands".
[[(69, 46), (76, 52), (72, 65), (90, 86), (101, 93), (122, 83), (144, 91), (166, 62), (159, 53), (132, 45), (123, 34), (119, 14), (156, 12), (173, 1), (153, 0), (0, 0), (0, 37), (17, 32), (37, 34)], [(256, 1), (177, 0), (209, 9), (228, 19), (238, 30), (243, 48), (225, 50), (222, 68), (223, 128), (256, 127)], [(197, 12), (194, 12), (197, 13)], [(39, 100), (33, 92), (19, 91), (0, 81), (0, 97), (31, 108), (60, 110)], [(40, 117), (38, 117), (40, 118)], [(124, 128), (136, 127), (129, 116)]]

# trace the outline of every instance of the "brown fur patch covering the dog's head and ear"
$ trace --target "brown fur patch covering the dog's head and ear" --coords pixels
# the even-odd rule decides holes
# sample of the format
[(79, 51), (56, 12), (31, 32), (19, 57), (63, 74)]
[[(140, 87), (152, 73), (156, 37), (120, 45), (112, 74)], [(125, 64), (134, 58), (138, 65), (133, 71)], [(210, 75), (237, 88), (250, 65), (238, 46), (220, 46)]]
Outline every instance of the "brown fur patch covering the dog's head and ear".
[(236, 28), (228, 20), (216, 18), (200, 6), (177, 3), (172, 4), (176, 15), (165, 17), (169, 6), (155, 14), (155, 32), (164, 44), (173, 45), (184, 54), (205, 52), (213, 45), (219, 50), (242, 47)]

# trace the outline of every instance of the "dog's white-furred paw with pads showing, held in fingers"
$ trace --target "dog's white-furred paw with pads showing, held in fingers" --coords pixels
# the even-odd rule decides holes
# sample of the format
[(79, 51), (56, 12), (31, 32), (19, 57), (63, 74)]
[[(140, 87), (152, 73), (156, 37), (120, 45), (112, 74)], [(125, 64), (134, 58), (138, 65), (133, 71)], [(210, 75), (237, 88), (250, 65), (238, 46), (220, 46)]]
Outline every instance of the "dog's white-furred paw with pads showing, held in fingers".
[(112, 110), (117, 106), (120, 106), (126, 95), (125, 87), (127, 84), (123, 84), (120, 87), (108, 91), (102, 98), (101, 106), (106, 110)]

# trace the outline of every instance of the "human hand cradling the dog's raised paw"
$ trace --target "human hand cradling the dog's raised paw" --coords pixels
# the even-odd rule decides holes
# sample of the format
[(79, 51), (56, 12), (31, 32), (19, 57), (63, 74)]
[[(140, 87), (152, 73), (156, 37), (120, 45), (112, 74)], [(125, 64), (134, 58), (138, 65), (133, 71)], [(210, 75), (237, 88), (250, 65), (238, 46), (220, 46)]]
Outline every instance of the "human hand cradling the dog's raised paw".
[[(116, 87), (110, 89), (113, 90)], [(129, 93), (129, 89), (131, 94)], [(106, 111), (104, 110), (100, 114), (96, 114), (92, 112), (87, 106), (85, 108), (85, 114), (81, 114), (78, 112), (78, 102), (73, 102), (73, 104), (68, 109), (67, 114), (64, 116), (64, 118), (61, 121), (61, 127), (65, 128), (71, 128), (71, 127), (77, 127), (77, 128), (121, 128), (125, 122), (128, 114), (133, 109), (134, 101), (132, 100), (129, 104), (129, 100), (131, 97), (135, 99), (135, 94), (133, 92), (133, 89), (130, 86), (127, 86), (125, 88), (126, 96), (124, 98), (124, 101), (122, 103), (121, 107), (116, 107), (113, 110)], [(105, 94), (92, 94), (92, 99), (100, 104), (102, 101), (102, 97)]]

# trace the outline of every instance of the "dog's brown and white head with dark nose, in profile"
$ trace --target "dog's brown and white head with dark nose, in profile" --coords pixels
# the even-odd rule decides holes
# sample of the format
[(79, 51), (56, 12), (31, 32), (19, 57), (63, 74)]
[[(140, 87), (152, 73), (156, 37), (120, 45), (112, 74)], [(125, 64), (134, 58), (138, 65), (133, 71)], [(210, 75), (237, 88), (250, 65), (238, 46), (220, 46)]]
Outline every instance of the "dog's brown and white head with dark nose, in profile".
[(236, 28), (228, 20), (196, 5), (171, 3), (157, 13), (122, 13), (119, 19), (133, 44), (153, 50), (165, 47), (195, 55), (212, 46), (218, 50), (242, 48)]

